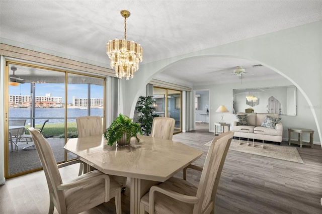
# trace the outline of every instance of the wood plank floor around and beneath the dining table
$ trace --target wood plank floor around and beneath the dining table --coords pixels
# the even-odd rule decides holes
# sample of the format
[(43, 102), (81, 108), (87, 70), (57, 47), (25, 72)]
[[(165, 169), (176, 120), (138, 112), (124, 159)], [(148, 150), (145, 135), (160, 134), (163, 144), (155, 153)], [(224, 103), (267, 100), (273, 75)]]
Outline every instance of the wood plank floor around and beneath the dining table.
[[(204, 144), (213, 137), (213, 133), (197, 129), (174, 135), (173, 139), (203, 150), (205, 154), (195, 162), (202, 166), (208, 150)], [(304, 164), (229, 150), (218, 187), (216, 213), (322, 213), (322, 149), (314, 145), (298, 147), (298, 151)], [(77, 167), (62, 169), (63, 180), (76, 175)], [(189, 181), (197, 184), (199, 178), (200, 173), (190, 171)], [(48, 206), (43, 171), (8, 179), (0, 186), (0, 213), (47, 213)], [(122, 195), (122, 212), (129, 213), (129, 188)], [(114, 201), (84, 213), (115, 213)]]

